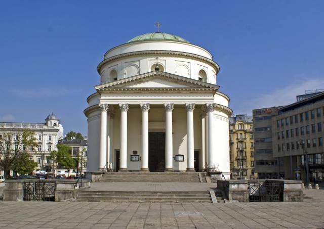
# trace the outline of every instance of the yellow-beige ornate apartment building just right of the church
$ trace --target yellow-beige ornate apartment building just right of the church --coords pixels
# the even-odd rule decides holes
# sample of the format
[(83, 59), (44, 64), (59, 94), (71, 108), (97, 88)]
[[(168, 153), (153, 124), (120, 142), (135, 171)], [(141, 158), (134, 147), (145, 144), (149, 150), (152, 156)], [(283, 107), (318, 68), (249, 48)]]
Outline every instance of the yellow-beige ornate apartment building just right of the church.
[(239, 114), (229, 119), (229, 154), (232, 179), (255, 179), (252, 117)]

